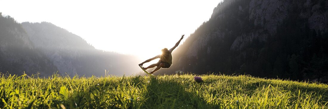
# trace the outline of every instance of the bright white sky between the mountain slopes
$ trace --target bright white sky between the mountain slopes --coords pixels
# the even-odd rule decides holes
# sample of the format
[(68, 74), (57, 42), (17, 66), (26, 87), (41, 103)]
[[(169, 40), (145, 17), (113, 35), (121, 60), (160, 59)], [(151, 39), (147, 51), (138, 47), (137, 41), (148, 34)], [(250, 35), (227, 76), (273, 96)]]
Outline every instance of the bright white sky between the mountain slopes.
[[(189, 37), (221, 0), (0, 0), (17, 22), (50, 22), (96, 49), (151, 58)], [(185, 38), (185, 39), (186, 39)], [(184, 40), (183, 40), (184, 41)], [(180, 43), (182, 44), (183, 41)]]

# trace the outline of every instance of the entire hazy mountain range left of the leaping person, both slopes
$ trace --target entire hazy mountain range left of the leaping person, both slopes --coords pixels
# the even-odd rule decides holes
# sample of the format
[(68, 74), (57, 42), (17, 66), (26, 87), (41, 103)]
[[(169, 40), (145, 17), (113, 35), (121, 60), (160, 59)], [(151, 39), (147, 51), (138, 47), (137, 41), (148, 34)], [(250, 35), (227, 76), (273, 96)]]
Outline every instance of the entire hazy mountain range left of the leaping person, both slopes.
[(140, 70), (137, 57), (97, 50), (52, 23), (17, 23), (10, 16), (1, 16), (0, 26), (3, 73), (102, 76), (105, 70), (114, 75), (131, 75)]

